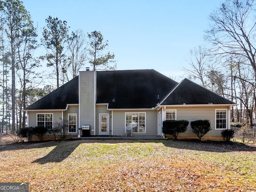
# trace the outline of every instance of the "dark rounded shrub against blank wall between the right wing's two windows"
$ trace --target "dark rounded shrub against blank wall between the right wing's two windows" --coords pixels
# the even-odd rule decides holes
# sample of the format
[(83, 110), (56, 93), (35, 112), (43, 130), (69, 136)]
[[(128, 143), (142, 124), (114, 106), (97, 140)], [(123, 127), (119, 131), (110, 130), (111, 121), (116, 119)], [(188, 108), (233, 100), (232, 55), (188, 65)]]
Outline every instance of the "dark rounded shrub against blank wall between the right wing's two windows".
[(190, 122), (192, 131), (198, 136), (201, 141), (202, 136), (204, 136), (208, 131), (211, 130), (210, 120), (196, 120)]

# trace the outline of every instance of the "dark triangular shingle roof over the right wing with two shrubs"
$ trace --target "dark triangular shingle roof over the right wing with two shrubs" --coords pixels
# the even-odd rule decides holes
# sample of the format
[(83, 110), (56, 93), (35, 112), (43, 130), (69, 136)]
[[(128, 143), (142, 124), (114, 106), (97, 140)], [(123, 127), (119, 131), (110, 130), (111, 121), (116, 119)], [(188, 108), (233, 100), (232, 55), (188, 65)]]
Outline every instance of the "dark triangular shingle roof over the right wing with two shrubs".
[(185, 78), (182, 80), (160, 105), (182, 104), (235, 104), (234, 102), (192, 82)]

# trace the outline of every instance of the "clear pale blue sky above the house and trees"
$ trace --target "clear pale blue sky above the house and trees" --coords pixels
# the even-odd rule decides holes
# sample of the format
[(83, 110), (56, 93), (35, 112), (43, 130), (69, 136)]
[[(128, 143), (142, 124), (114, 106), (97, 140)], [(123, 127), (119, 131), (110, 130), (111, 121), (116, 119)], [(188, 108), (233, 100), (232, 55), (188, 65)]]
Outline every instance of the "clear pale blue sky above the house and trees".
[(40, 37), (45, 19), (58, 17), (67, 21), (70, 32), (100, 31), (109, 42), (109, 51), (116, 55), (117, 70), (155, 69), (171, 78), (182, 74), (190, 49), (204, 44), (208, 16), (221, 3), (222, 0), (23, 0), (38, 24)]

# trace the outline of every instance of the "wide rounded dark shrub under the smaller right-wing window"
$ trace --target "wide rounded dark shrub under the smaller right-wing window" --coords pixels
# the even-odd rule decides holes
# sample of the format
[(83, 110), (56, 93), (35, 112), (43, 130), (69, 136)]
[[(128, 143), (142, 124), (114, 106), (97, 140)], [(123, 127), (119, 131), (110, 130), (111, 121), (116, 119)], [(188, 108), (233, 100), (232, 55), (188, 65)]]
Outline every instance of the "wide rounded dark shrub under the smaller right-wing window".
[(180, 133), (187, 130), (189, 122), (187, 120), (166, 120), (163, 122), (163, 133), (172, 135), (175, 140)]

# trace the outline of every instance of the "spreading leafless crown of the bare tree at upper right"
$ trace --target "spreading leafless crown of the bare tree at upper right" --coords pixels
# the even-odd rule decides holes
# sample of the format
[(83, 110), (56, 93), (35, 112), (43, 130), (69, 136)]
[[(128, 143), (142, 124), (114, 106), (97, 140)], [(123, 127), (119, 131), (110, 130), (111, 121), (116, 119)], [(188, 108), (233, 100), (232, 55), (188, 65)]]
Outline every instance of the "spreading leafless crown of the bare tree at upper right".
[(236, 54), (248, 59), (256, 74), (256, 20), (254, 0), (226, 0), (210, 14), (206, 40), (218, 54)]

